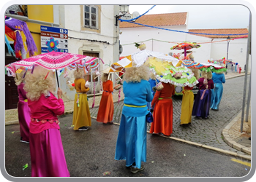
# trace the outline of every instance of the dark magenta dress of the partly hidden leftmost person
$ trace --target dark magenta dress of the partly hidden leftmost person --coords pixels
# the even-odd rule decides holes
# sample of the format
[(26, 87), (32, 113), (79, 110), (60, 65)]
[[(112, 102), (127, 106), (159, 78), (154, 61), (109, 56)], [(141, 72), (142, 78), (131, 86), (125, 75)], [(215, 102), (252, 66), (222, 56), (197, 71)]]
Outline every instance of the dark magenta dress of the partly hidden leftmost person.
[(23, 89), (23, 87), (23, 83), (18, 85), (18, 120), (20, 123), (20, 141), (29, 142), (30, 108), (26, 98), (26, 91)]

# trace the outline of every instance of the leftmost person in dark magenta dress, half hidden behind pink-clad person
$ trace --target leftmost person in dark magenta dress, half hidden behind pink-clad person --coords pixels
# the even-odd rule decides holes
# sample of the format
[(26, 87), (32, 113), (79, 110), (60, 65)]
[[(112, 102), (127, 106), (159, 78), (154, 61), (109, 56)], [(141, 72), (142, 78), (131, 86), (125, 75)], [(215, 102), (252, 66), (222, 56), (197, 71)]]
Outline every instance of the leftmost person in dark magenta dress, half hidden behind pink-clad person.
[(26, 91), (24, 90), (25, 70), (18, 69), (15, 76), (15, 84), (18, 87), (18, 120), (20, 124), (20, 142), (29, 143), (29, 124), (30, 124), (30, 108)]

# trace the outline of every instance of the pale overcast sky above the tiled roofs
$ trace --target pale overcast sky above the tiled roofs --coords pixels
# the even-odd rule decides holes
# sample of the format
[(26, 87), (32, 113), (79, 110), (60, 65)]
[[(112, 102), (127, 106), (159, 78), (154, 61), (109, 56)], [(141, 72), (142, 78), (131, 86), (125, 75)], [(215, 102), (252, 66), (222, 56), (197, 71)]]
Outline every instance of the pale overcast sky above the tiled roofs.
[[(129, 13), (148, 11), (153, 5), (129, 5)], [(188, 29), (247, 28), (249, 9), (244, 5), (156, 5), (146, 15), (188, 13)]]

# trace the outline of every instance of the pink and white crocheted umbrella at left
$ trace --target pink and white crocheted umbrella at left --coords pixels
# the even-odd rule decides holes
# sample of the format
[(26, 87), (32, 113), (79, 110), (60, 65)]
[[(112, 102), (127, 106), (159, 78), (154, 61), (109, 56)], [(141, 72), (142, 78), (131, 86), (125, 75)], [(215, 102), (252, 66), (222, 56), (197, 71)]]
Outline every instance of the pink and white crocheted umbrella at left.
[[(9, 75), (15, 76), (15, 72), (20, 67), (24, 67), (26, 68), (26, 70), (28, 69), (31, 70), (31, 74), (33, 74), (35, 66), (42, 66), (43, 68), (46, 68), (48, 70), (56, 70), (56, 69), (65, 68), (75, 63), (78, 66), (83, 66), (82, 68), (85, 68), (85, 66), (87, 66), (88, 64), (91, 64), (92, 61), (96, 59), (100, 59), (100, 58), (94, 58), (86, 55), (52, 51), (52, 52), (44, 53), (41, 55), (35, 55), (23, 60), (19, 60), (14, 63), (10, 63), (5, 67), (7, 68), (7, 72)], [(57, 76), (57, 82), (59, 87), (58, 76)]]

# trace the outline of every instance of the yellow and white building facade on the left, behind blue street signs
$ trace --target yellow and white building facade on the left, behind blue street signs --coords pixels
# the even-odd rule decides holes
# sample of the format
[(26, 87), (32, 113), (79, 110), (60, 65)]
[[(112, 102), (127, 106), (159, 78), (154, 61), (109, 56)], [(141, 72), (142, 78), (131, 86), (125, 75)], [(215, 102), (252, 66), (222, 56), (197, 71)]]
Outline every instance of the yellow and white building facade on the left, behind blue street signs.
[[(22, 15), (18, 11), (23, 12)], [(41, 26), (64, 28), (68, 31), (68, 52), (101, 58), (104, 63), (97, 60), (97, 71), (102, 71), (119, 58), (119, 27), (115, 25), (118, 12), (118, 5), (12, 5), (7, 8), (5, 15), (26, 22), (37, 46), (36, 55), (43, 53)], [(13, 41), (10, 40), (10, 43)], [(89, 94), (93, 94), (95, 76), (95, 71), (86, 75), (91, 85)], [(59, 77), (61, 90), (67, 100), (74, 99), (75, 90), (70, 87), (72, 82), (72, 78), (68, 83), (64, 76)], [(96, 84), (99, 84), (99, 78)], [(98, 87), (96, 93), (100, 92)]]

